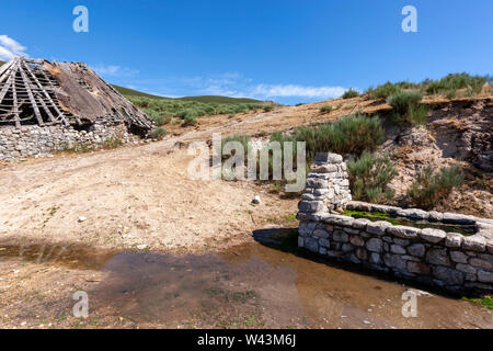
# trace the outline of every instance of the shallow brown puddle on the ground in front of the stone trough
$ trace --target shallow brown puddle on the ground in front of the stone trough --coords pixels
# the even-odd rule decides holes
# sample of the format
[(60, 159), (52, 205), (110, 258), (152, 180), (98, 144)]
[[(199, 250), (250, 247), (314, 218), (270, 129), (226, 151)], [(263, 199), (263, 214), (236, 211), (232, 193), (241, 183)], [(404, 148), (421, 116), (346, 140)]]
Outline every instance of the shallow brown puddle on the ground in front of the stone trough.
[[(44, 246), (43, 252), (60, 247)], [(259, 242), (218, 254), (66, 246), (56, 258), (42, 256), (44, 261), (37, 261), (43, 246), (22, 256), (19, 247), (0, 248), (0, 260), (102, 272), (102, 281), (88, 290), (90, 316), (125, 318), (139, 327), (493, 328), (490, 310), (435, 294), (419, 296), (419, 317), (404, 318), (402, 294), (409, 286)]]

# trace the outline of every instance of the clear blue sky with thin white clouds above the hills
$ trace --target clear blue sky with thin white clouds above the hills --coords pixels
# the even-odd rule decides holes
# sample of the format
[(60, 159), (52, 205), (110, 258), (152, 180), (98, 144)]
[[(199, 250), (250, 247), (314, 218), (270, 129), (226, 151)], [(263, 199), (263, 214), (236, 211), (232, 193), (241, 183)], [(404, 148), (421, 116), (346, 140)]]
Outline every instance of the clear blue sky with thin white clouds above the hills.
[[(89, 9), (89, 33), (72, 10)], [(404, 5), (417, 33), (404, 33)], [(387, 80), (493, 73), (491, 0), (2, 0), (0, 58), (84, 61), (165, 97), (294, 104)]]

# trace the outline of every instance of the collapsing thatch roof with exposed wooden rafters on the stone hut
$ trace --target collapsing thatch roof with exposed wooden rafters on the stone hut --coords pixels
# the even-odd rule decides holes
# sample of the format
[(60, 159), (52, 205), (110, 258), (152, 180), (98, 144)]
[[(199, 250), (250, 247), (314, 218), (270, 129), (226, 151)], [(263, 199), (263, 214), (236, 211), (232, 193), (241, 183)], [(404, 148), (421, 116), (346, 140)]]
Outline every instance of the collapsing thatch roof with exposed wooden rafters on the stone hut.
[(0, 67), (0, 126), (125, 123), (147, 134), (152, 121), (80, 63), (16, 57)]

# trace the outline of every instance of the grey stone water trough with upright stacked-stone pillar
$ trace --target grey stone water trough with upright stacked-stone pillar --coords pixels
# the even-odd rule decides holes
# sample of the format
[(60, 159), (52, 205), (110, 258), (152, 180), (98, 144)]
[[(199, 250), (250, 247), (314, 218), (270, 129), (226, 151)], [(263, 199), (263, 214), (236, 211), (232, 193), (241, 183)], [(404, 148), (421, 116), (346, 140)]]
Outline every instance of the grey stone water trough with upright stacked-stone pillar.
[[(333, 160), (337, 161), (335, 165), (343, 165), (339, 157), (328, 155), (323, 159), (331, 161), (316, 167), (334, 165)], [(330, 167), (326, 171), (333, 169)], [(299, 247), (328, 259), (360, 264), (454, 293), (493, 292), (492, 219), (342, 201), (343, 205), (352, 210), (378, 211), (437, 223), (473, 224), (478, 233), (463, 236), (434, 228), (392, 225), (386, 220), (355, 219), (331, 213), (330, 208), (341, 206), (337, 197), (334, 197), (335, 204), (324, 206), (324, 202), (331, 197), (321, 196), (332, 194), (330, 188), (335, 184), (328, 179), (311, 177), (307, 181), (307, 192), (297, 215), (300, 220)]]

